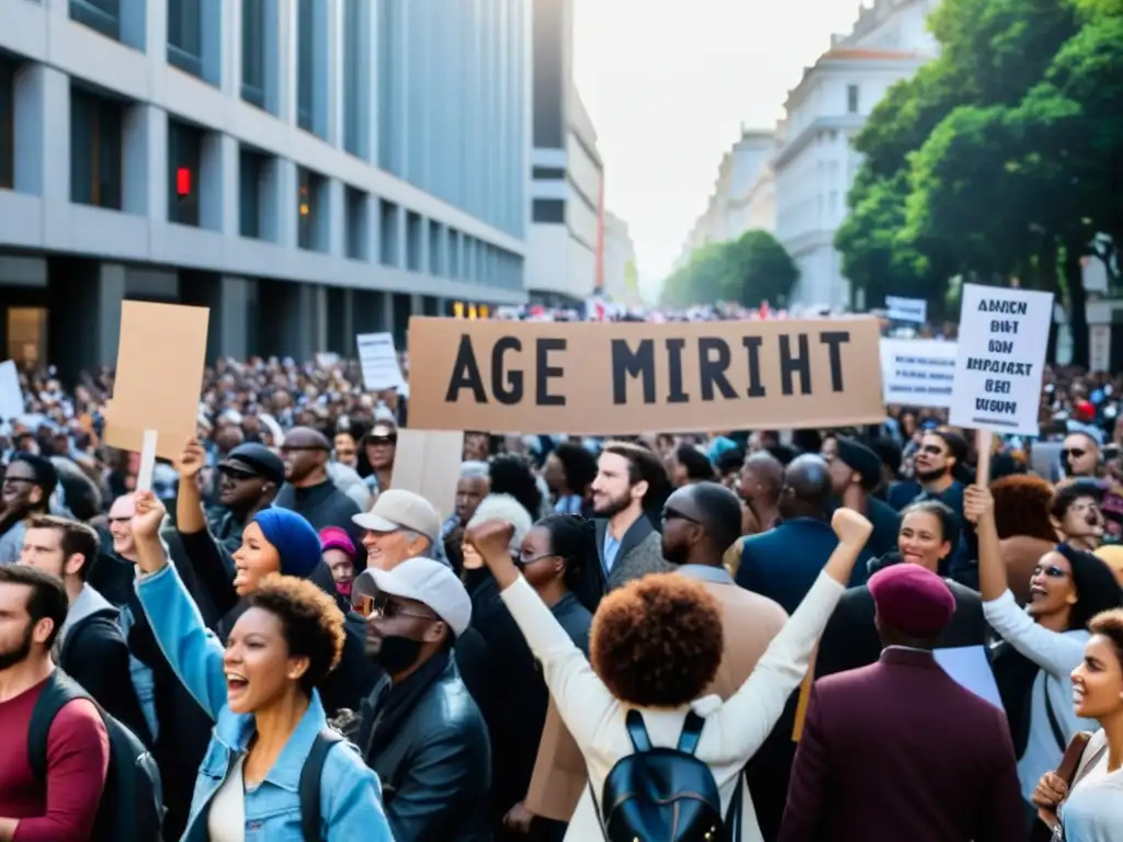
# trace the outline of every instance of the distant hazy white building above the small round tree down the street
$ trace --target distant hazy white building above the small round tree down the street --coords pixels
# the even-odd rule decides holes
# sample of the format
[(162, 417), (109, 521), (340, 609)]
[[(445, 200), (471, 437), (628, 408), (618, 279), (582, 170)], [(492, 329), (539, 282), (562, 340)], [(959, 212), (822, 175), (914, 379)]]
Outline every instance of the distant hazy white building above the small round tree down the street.
[(759, 227), (752, 225), (754, 220), (767, 221), (766, 203), (754, 195), (754, 189), (774, 150), (772, 131), (741, 128), (741, 137), (721, 158), (706, 209), (687, 235), (676, 267), (685, 265), (700, 248), (737, 239)]

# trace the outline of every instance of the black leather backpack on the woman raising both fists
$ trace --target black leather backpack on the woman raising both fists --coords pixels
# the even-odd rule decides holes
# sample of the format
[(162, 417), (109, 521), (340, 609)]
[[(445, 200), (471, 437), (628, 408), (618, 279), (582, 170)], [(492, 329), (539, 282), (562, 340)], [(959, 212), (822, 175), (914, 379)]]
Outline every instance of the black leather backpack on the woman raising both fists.
[(597, 807), (608, 842), (716, 842), (739, 838), (741, 779), (727, 822), (713, 774), (694, 757), (704, 724), (705, 720), (691, 711), (678, 748), (652, 748), (642, 714), (628, 712), (628, 735), (634, 752), (609, 771), (604, 807)]

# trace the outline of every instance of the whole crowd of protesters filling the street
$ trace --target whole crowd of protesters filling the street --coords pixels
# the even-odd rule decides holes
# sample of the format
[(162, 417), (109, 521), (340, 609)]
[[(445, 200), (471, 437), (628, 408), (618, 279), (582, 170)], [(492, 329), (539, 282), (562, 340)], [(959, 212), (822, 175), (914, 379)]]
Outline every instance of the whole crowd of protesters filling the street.
[[(661, 840), (628, 785), (652, 745), (693, 757), (687, 831), (1123, 839), (1123, 377), (1050, 369), (982, 485), (970, 431), (889, 408), (469, 431), (438, 512), (393, 487), (405, 390), (354, 363), (220, 360), (150, 492), (101, 442), (111, 372), (21, 376), (0, 842), (143, 838), (145, 775), (164, 840)], [(1001, 707), (939, 666), (976, 647)]]

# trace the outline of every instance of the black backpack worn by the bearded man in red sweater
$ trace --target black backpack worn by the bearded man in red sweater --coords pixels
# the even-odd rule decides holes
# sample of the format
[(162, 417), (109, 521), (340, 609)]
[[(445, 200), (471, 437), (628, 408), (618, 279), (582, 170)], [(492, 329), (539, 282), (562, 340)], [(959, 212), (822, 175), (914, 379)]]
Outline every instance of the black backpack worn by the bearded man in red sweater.
[(84, 698), (98, 708), (109, 735), (109, 771), (90, 839), (94, 842), (128, 839), (159, 842), (164, 798), (159, 769), (136, 734), (106, 713), (101, 705), (56, 669), (35, 703), (27, 734), (27, 757), (36, 780), (46, 785), (47, 738), (62, 707)]

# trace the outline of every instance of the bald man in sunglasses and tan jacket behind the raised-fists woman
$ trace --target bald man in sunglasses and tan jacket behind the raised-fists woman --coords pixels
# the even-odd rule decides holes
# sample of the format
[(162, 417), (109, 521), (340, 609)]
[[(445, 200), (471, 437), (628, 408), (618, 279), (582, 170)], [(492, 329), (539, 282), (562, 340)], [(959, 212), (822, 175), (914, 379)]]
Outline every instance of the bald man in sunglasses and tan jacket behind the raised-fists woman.
[[(787, 622), (787, 613), (768, 597), (738, 587), (725, 570), (723, 548), (740, 531), (740, 505), (731, 491), (716, 483), (688, 485), (670, 495), (663, 512), (664, 557), (678, 565), (678, 575), (700, 582), (721, 606), (724, 651), (706, 695), (725, 701), (745, 684)], [(746, 769), (752, 807), (765, 839), (775, 838), (784, 811), (787, 778), (776, 774), (776, 751), (786, 749), (791, 762), (788, 734), (791, 727), (786, 732), (779, 729), (775, 743), (769, 738)]]

